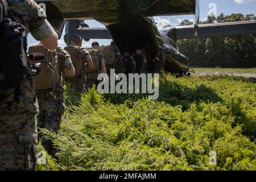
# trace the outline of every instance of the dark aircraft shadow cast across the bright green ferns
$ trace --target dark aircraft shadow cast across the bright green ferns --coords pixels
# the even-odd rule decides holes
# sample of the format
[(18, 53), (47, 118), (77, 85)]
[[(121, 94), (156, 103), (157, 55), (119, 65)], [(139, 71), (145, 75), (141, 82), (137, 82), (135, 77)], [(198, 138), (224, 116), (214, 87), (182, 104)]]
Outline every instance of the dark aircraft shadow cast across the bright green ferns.
[[(148, 97), (148, 94), (104, 94), (104, 98), (113, 104), (132, 103)], [(181, 105), (183, 110), (189, 109), (193, 102), (222, 102), (221, 98), (205, 85), (199, 85), (195, 89), (177, 84), (175, 81), (164, 79), (159, 85), (158, 101), (166, 102), (172, 106)]]

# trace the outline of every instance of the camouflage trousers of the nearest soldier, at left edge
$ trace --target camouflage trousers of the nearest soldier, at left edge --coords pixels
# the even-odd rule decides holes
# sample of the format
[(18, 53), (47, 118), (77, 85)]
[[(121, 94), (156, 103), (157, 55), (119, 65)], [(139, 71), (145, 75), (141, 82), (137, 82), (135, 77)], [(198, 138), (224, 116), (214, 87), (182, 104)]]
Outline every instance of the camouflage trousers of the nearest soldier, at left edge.
[(32, 77), (0, 105), (0, 170), (33, 170), (37, 155), (36, 97)]

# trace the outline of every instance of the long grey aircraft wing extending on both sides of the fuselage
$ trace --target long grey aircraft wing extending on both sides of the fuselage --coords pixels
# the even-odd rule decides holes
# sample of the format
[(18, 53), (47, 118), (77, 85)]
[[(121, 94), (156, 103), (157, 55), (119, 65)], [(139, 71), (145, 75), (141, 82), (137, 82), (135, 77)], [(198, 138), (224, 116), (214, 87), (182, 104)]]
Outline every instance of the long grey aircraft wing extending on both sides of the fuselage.
[[(244, 22), (200, 24), (197, 36), (193, 34), (192, 25), (180, 26), (160, 32), (170, 38), (175, 34), (177, 39), (256, 34), (256, 22), (251, 20)], [(75, 34), (80, 35), (84, 39), (111, 39), (106, 28), (83, 27), (77, 29)]]

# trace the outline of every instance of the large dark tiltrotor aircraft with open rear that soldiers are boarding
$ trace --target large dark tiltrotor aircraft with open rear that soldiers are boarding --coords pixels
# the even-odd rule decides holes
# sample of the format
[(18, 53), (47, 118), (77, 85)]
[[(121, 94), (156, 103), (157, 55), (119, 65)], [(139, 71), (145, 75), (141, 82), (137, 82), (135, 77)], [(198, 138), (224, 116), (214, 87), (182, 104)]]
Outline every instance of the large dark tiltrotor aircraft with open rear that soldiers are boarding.
[[(44, 3), (49, 22), (59, 34), (63, 32), (66, 22), (67, 44), (73, 35), (78, 34), (84, 39), (113, 39), (121, 52), (135, 52), (137, 47), (146, 49), (150, 57), (154, 57), (159, 46), (164, 49), (166, 57), (165, 71), (189, 75), (190, 60), (179, 52), (177, 38), (191, 38), (200, 35), (235, 35), (238, 31), (232, 24), (223, 24), (224, 31), (216, 31), (206, 27), (199, 34), (200, 0), (35, 0)], [(153, 16), (161, 15), (195, 15), (191, 27), (181, 27), (160, 32)], [(104, 24), (105, 28), (88, 28), (81, 25), (82, 20), (95, 19)], [(245, 27), (245, 25), (247, 27)], [(252, 27), (253, 25), (253, 27)], [(233, 26), (237, 26), (233, 25)], [(239, 26), (239, 25), (238, 25)], [(256, 23), (240, 25), (243, 34), (255, 34)], [(220, 28), (221, 25), (215, 26)], [(203, 30), (205, 27), (202, 27)], [(214, 28), (214, 27), (213, 27)], [(239, 27), (236, 28), (239, 30)]]

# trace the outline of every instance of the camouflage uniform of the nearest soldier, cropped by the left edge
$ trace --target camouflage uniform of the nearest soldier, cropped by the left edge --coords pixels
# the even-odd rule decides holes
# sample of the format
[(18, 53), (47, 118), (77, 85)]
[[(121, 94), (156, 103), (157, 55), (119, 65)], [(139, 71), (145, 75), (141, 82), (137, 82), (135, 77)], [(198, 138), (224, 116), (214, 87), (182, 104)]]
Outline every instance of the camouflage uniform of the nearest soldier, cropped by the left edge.
[[(52, 27), (38, 16), (39, 6), (32, 0), (7, 0), (10, 15), (31, 32), (37, 40), (52, 34)], [(35, 169), (37, 130), (35, 114), (38, 112), (34, 81), (27, 70), (19, 86), (19, 99), (10, 94), (0, 105), (0, 170)]]

